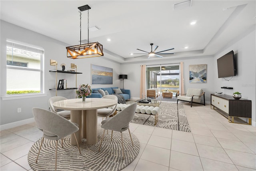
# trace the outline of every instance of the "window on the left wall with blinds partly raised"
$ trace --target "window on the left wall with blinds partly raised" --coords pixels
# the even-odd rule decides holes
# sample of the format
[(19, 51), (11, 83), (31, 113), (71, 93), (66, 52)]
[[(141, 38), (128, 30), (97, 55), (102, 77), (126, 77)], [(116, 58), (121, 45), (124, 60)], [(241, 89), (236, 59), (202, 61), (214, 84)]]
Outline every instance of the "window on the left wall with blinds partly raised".
[(42, 93), (42, 57), (44, 50), (6, 41), (6, 93)]

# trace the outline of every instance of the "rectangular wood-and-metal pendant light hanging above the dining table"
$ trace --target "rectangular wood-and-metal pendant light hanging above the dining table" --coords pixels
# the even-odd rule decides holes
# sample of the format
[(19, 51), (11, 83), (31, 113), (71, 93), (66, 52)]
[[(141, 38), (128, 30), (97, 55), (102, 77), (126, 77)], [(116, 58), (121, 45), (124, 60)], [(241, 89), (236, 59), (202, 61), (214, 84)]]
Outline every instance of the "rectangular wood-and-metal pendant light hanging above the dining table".
[[(66, 47), (67, 57), (72, 59), (80, 59), (104, 56), (102, 44), (98, 42), (89, 43), (89, 9), (91, 9), (91, 7), (84, 5), (78, 7), (78, 9), (80, 10), (80, 45)], [(81, 12), (85, 10), (88, 10), (88, 43), (81, 44)]]

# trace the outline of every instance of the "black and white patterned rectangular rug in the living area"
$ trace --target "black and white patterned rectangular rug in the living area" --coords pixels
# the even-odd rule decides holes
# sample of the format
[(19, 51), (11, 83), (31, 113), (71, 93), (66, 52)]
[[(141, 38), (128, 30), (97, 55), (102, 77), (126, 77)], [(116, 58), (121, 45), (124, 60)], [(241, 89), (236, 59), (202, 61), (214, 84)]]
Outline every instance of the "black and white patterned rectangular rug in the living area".
[(154, 115), (143, 113), (135, 113), (135, 117), (131, 123), (191, 132), (185, 109), (181, 103), (179, 103), (177, 106), (177, 103), (162, 102), (160, 103), (159, 107), (160, 110), (158, 112), (158, 121), (156, 125), (154, 125)]

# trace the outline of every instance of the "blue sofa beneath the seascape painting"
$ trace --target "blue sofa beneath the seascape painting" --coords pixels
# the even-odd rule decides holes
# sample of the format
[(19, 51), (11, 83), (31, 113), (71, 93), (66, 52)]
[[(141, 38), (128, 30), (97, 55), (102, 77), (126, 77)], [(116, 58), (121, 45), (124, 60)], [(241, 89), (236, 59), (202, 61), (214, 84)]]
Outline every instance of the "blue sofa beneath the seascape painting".
[[(107, 90), (109, 94), (114, 94), (114, 90), (118, 87), (106, 87), (106, 88), (92, 88), (92, 95), (89, 95), (87, 97), (89, 98), (102, 98), (102, 95), (100, 93), (93, 93), (94, 90), (103, 89), (104, 91)], [(122, 89), (121, 89), (122, 90)], [(124, 96), (125, 100), (128, 100), (131, 98), (130, 89), (123, 89), (125, 93), (119, 94)]]

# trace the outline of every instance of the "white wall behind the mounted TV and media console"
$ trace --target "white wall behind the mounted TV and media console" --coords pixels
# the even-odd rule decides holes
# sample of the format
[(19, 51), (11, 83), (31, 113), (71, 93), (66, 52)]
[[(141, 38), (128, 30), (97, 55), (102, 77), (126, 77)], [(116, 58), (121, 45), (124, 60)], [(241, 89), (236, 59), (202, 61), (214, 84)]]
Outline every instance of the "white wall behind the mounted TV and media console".
[[(256, 122), (256, 34), (255, 28), (241, 35), (240, 40), (230, 42), (223, 50), (214, 55), (214, 68), (217, 68), (217, 59), (231, 50), (236, 56), (236, 76), (230, 81), (218, 78), (218, 71), (214, 70), (215, 91), (232, 95), (233, 92), (242, 93), (242, 98), (252, 100), (252, 125)], [(228, 78), (230, 79), (230, 78)], [(221, 89), (220, 87), (233, 87)]]

